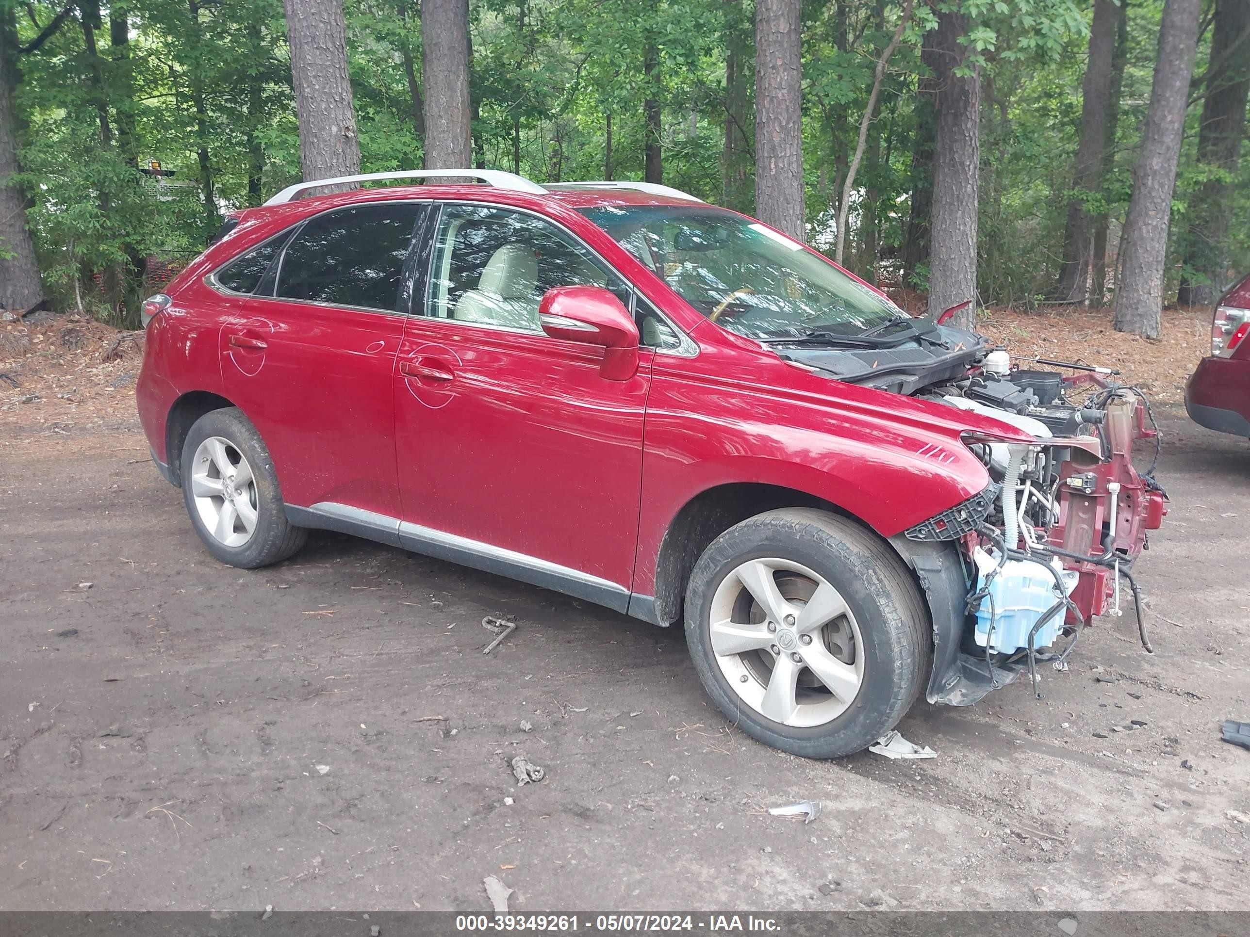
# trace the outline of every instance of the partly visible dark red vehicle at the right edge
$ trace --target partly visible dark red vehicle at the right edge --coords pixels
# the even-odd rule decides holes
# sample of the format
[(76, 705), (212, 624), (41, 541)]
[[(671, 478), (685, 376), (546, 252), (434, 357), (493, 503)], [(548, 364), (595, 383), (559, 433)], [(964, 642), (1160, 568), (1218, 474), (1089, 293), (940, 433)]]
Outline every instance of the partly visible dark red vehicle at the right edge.
[(1185, 384), (1185, 410), (1209, 430), (1250, 436), (1250, 276), (1215, 304), (1211, 354)]

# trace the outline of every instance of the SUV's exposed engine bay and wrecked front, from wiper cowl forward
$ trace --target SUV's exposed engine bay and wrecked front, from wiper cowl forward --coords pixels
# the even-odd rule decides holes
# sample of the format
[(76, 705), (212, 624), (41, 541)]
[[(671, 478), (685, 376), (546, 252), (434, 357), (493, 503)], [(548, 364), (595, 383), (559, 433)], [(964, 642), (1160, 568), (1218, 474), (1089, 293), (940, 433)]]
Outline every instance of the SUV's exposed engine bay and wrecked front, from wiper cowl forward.
[[(1134, 595), (1141, 642), (1152, 651), (1132, 563), (1148, 531), (1161, 526), (1166, 493), (1152, 477), (1159, 430), (1145, 395), (1109, 369), (1045, 360), (1020, 367), (974, 332), (908, 325), (910, 334), (890, 345), (774, 350), (851, 384), (991, 416), (1035, 440), (965, 436), (990, 485), (906, 531), (912, 542), (955, 545), (962, 563), (959, 653), (948, 655), (945, 677), (935, 663), (945, 686), (931, 685), (930, 700), (969, 705), (1024, 668), (1039, 692), (1038, 665), (1065, 668), (1085, 625), (1121, 613), (1121, 590)], [(1152, 446), (1142, 471), (1132, 461), (1138, 442)]]

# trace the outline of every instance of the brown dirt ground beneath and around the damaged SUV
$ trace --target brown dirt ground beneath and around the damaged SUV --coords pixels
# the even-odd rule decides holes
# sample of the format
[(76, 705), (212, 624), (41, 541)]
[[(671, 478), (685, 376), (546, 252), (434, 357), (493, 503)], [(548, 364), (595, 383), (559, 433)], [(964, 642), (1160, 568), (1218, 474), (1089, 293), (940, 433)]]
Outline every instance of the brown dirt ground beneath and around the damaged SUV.
[(812, 762), (729, 726), (680, 631), (339, 535), (216, 563), (89, 337), (0, 366), (2, 911), (486, 911), (489, 875), (525, 912), (1250, 910), (1244, 440), (1164, 407), (1154, 656), (1130, 605), (1042, 701), (919, 705), (935, 760)]

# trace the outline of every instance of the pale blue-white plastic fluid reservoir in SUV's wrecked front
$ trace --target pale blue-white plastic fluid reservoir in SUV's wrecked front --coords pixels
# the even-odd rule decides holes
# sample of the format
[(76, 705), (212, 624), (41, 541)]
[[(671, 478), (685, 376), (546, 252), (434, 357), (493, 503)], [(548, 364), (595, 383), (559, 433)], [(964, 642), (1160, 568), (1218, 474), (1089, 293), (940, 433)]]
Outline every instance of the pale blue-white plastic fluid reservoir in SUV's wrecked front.
[[(976, 563), (976, 587), (980, 590), (985, 587), (986, 576), (998, 567), (999, 555), (976, 547), (972, 561)], [(1059, 572), (1065, 592), (1071, 595), (1079, 573), (1064, 570), (1058, 558), (1051, 565)], [(1014, 653), (1026, 648), (1032, 626), (1056, 601), (1059, 593), (1055, 590), (1055, 577), (1040, 560), (1008, 560), (990, 580), (989, 595), (976, 610), (976, 643), (981, 647), (989, 643), (994, 653)], [(1064, 617), (1065, 612), (1060, 610), (1041, 626), (1032, 638), (1034, 650), (1055, 643)]]

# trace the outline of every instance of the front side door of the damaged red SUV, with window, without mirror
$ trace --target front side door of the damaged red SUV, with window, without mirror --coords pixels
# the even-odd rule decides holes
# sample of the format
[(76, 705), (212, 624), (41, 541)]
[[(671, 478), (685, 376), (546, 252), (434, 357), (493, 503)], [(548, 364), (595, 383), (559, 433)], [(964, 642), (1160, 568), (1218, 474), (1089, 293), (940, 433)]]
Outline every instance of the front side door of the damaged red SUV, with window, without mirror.
[(629, 290), (529, 212), (446, 205), (432, 227), (395, 377), (400, 538), (624, 611), (651, 352), (606, 380), (604, 350), (549, 337), (538, 309), (554, 286)]

